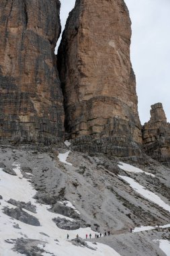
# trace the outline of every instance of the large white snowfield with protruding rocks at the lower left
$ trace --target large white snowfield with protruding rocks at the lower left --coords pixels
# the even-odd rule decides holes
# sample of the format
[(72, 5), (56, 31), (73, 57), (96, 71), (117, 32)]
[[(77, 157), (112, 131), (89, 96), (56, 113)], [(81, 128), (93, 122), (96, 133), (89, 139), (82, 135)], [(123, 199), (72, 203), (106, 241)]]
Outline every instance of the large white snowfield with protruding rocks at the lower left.
[[(81, 238), (85, 238), (85, 234), (91, 233), (92, 237), (95, 236), (95, 232), (91, 228), (79, 228), (78, 230), (62, 230), (56, 226), (52, 221), (52, 218), (67, 218), (59, 214), (54, 214), (48, 211), (50, 205), (42, 205), (36, 202), (36, 199), (33, 199), (36, 191), (33, 189), (31, 183), (22, 176), (20, 166), (18, 163), (13, 165), (13, 170), (17, 176), (12, 176), (3, 172), (3, 169), (0, 168), (0, 195), (3, 197), (1, 199), (0, 205), (0, 255), (1, 256), (18, 256), (22, 255), (20, 253), (12, 251), (14, 247), (13, 239), (17, 238), (30, 238), (40, 241), (39, 247), (43, 248), (46, 253), (42, 253), (43, 256), (47, 255), (57, 255), (57, 256), (120, 256), (114, 249), (108, 247), (107, 245), (97, 243), (89, 243), (90, 247), (96, 249), (93, 251), (87, 247), (77, 247), (72, 245), (67, 241), (67, 233), (69, 238), (76, 238), (77, 234)], [(10, 218), (9, 216), (3, 213), (3, 207), (8, 206), (9, 208), (15, 208), (15, 206), (7, 203), (7, 200), (10, 198), (17, 201), (24, 201), (28, 203), (31, 201), (32, 205), (36, 205), (36, 214), (28, 212), (30, 215), (35, 216), (40, 221), (40, 226), (32, 226)], [(67, 203), (71, 205), (71, 203)], [(73, 207), (73, 205), (71, 205)], [(20, 229), (14, 228), (13, 225), (18, 224)], [(46, 235), (44, 235), (44, 234)], [(6, 243), (7, 240), (11, 243)], [(58, 240), (56, 242), (55, 240)]]

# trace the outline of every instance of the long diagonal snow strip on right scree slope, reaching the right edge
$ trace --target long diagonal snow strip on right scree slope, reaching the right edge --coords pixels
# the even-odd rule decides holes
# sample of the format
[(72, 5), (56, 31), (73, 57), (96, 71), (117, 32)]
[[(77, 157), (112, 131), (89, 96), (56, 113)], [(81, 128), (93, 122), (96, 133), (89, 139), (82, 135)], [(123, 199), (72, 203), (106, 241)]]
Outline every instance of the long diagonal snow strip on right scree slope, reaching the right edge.
[(136, 183), (136, 181), (134, 181), (134, 179), (130, 177), (121, 176), (121, 175), (118, 175), (118, 176), (124, 181), (126, 181), (127, 183), (129, 183), (130, 187), (132, 187), (132, 189), (134, 189), (140, 195), (142, 195), (143, 197), (145, 197), (150, 201), (153, 201), (153, 203), (159, 205), (163, 209), (170, 212), (170, 206), (167, 203), (165, 203), (158, 195), (155, 195), (155, 193), (145, 189), (145, 187), (141, 186), (139, 183)]

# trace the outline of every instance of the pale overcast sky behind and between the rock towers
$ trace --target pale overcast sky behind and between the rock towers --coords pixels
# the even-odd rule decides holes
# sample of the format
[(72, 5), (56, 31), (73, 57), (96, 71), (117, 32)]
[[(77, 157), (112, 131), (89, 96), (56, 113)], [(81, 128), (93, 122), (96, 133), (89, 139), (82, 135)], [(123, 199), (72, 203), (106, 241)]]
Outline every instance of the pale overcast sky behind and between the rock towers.
[[(92, 0), (93, 1), (93, 0)], [(60, 0), (62, 29), (75, 0)], [(162, 102), (170, 121), (170, 0), (125, 0), (132, 20), (131, 61), (143, 124)]]

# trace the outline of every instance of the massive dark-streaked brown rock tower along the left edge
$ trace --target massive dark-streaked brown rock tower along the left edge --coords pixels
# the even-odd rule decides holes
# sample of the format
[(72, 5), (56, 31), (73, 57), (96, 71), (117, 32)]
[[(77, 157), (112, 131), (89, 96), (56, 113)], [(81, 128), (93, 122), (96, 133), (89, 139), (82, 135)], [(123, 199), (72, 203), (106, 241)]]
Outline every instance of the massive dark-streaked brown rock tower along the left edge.
[(0, 1), (0, 140), (53, 143), (64, 110), (54, 47), (58, 0)]

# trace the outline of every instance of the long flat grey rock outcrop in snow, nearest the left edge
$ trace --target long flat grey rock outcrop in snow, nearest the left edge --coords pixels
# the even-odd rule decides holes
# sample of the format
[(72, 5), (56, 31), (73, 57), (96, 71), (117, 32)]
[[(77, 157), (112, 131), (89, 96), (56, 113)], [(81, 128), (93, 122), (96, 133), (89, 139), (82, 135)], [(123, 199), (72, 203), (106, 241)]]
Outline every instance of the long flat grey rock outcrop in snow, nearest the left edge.
[(24, 222), (32, 226), (40, 226), (40, 222), (36, 217), (28, 214), (27, 212), (24, 212), (22, 209), (19, 209), (18, 207), (3, 207), (3, 213), (7, 214), (7, 216), (10, 216), (11, 218), (14, 218), (15, 220), (19, 220), (20, 222)]

